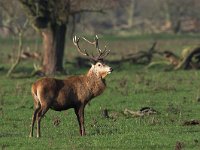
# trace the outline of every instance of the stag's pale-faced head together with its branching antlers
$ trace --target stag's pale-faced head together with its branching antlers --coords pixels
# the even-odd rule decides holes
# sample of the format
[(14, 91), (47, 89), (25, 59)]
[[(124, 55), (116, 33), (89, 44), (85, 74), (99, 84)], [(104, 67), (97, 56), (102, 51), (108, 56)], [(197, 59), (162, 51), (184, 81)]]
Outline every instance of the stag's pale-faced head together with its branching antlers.
[[(79, 46), (80, 39), (83, 39), (84, 41), (88, 42), (89, 44), (95, 45), (98, 55), (97, 56), (89, 55), (86, 49), (81, 49)], [(99, 76), (101, 78), (105, 78), (108, 74), (110, 74), (113, 71), (113, 69), (111, 67), (109, 67), (108, 65), (106, 65), (104, 63), (104, 58), (106, 56), (108, 56), (108, 54), (110, 53), (110, 50), (107, 50), (106, 46), (103, 51), (99, 48), (99, 42), (98, 42), (97, 35), (95, 36), (93, 42), (89, 41), (85, 37), (80, 38), (80, 37), (74, 36), (73, 43), (76, 46), (76, 48), (80, 54), (87, 56), (92, 61), (92, 67), (91, 67), (90, 71), (93, 71), (97, 76)]]

